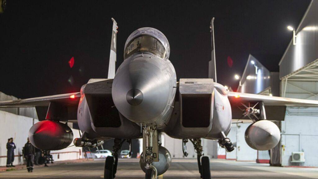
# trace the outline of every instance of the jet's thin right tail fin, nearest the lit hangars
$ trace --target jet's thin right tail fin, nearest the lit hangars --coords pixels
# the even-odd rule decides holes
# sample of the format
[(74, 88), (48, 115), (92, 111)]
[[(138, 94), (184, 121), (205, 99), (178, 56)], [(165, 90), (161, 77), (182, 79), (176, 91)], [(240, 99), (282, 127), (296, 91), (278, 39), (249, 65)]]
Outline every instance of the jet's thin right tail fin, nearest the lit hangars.
[(217, 82), (217, 69), (215, 63), (215, 44), (214, 44), (214, 18), (211, 19), (210, 32), (211, 32), (211, 61), (209, 61), (209, 78), (212, 78), (214, 82)]

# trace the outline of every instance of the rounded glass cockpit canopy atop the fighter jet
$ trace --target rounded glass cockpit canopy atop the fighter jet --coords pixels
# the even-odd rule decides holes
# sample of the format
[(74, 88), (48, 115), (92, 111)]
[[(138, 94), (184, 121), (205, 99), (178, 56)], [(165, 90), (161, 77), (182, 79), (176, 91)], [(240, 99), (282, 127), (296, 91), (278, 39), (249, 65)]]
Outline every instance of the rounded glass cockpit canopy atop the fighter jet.
[(162, 59), (168, 59), (169, 42), (157, 29), (144, 27), (130, 34), (125, 44), (124, 59), (135, 53), (149, 53)]

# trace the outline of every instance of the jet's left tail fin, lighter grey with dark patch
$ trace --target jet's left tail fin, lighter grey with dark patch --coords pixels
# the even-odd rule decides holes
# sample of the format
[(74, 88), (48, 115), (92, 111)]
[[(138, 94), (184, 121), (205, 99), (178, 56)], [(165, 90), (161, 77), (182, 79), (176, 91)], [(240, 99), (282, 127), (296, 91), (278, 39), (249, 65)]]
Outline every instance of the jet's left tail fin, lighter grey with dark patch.
[(112, 32), (112, 41), (110, 46), (109, 54), (109, 65), (108, 65), (108, 79), (114, 79), (115, 77), (115, 68), (116, 68), (116, 43), (117, 43), (117, 22), (114, 18), (113, 20), (113, 32)]

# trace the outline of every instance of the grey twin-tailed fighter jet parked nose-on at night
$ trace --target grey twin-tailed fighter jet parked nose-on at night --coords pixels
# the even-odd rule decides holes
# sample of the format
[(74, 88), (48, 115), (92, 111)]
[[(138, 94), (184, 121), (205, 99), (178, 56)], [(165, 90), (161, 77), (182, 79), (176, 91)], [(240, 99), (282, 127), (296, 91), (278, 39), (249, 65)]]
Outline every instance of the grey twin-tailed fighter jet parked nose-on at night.
[[(216, 140), (226, 151), (234, 147), (227, 137), (232, 119), (247, 119), (248, 145), (269, 150), (280, 140), (279, 128), (270, 120), (285, 115), (286, 106), (318, 106), (318, 101), (229, 92), (213, 78), (180, 79), (177, 82), (166, 36), (144, 27), (132, 32), (124, 48), (124, 61), (115, 73), (117, 23), (114, 19), (107, 79), (90, 79), (80, 92), (0, 102), (0, 107), (35, 107), (39, 122), (29, 131), (31, 143), (44, 150), (59, 150), (72, 141), (77, 147), (97, 147), (114, 139), (113, 156), (105, 161), (104, 178), (116, 176), (121, 145), (143, 139), (140, 166), (145, 179), (165, 173), (171, 163), (161, 145), (164, 132), (190, 140), (197, 153), (201, 178), (210, 179), (210, 160), (203, 156), (201, 139)], [(213, 33), (213, 20), (211, 21)], [(213, 38), (212, 59), (214, 58)], [(215, 61), (212, 61), (215, 64)], [(215, 65), (214, 65), (214, 70)], [(216, 74), (216, 73), (215, 73)], [(242, 105), (244, 104), (244, 105)], [(247, 110), (236, 106), (251, 104)], [(234, 121), (236, 121), (234, 120)], [(246, 120), (246, 119), (244, 119)], [(80, 138), (73, 140), (66, 123), (79, 125)], [(186, 156), (186, 147), (183, 147)]]

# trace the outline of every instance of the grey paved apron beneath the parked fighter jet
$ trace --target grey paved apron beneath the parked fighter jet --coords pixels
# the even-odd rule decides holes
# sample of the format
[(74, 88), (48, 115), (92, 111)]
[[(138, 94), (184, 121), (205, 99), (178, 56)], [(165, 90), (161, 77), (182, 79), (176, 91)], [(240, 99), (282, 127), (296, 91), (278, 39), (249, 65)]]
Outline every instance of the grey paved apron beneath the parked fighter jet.
[[(1, 179), (100, 179), (103, 175), (104, 161), (60, 164), (35, 168), (33, 173), (26, 169), (1, 172)], [(270, 167), (255, 162), (211, 160), (211, 175), (214, 179), (306, 179), (317, 178), (318, 168)], [(143, 179), (144, 173), (136, 159), (120, 160), (116, 179)], [(196, 160), (174, 159), (169, 170), (159, 179), (199, 179)]]

